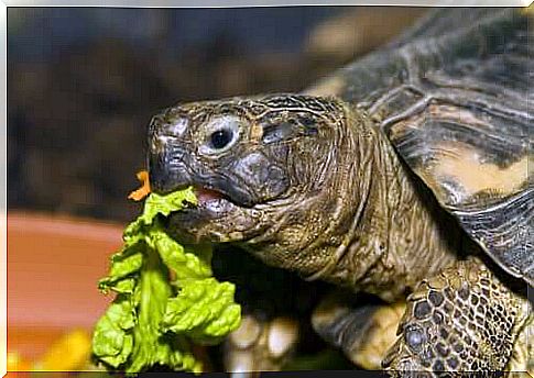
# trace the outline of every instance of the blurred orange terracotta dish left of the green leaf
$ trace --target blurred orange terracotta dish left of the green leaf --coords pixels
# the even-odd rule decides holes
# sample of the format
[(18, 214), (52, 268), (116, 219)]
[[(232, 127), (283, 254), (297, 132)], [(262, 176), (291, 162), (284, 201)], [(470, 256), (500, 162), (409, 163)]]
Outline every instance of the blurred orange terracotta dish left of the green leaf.
[(111, 297), (97, 281), (122, 227), (46, 214), (8, 214), (8, 351), (35, 360), (77, 329), (90, 334)]

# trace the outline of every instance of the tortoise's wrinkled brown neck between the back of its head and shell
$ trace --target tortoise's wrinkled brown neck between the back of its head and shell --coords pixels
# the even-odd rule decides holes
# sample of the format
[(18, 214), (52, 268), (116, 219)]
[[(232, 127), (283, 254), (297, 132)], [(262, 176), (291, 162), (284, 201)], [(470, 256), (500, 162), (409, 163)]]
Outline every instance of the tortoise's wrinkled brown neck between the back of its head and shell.
[(310, 278), (393, 301), (453, 264), (461, 236), (378, 127), (364, 122), (356, 138), (357, 179), (346, 182), (353, 203), (345, 204), (353, 209), (353, 223), (335, 257)]

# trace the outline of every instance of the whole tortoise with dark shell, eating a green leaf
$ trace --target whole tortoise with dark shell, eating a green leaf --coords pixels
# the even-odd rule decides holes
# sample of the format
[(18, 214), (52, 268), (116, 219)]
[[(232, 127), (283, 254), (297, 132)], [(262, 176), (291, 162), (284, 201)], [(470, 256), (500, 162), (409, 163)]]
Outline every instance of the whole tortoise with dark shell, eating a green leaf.
[[(298, 93), (164, 110), (152, 189), (199, 200), (170, 232), (339, 288), (312, 323), (360, 367), (533, 371), (531, 19), (435, 9)], [(230, 366), (280, 368), (298, 333), (276, 322), (246, 315)]]

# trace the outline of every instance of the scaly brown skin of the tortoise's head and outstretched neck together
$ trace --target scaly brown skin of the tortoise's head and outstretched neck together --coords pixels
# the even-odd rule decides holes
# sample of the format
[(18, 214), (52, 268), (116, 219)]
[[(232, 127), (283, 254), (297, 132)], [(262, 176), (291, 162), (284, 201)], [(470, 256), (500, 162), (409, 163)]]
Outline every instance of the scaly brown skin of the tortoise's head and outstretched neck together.
[[(287, 105), (287, 100), (293, 102)], [(269, 127), (290, 124), (296, 113), (313, 116), (317, 133), (297, 135), (306, 125), (296, 119), (287, 126), (292, 130), (280, 131), (287, 136), (261, 144)], [(214, 129), (209, 120), (229, 114), (236, 116), (230, 122), (244, 124), (231, 154), (238, 162), (232, 170), (244, 171), (247, 178), (229, 176), (227, 163), (218, 165), (224, 154), (214, 159), (199, 148), (208, 129)], [(164, 134), (176, 123), (187, 124), (179, 138)], [(151, 182), (156, 191), (204, 180), (204, 187), (229, 199), (220, 200), (217, 212), (179, 214), (173, 227), (184, 241), (235, 242), (269, 265), (386, 301), (405, 297), (457, 257), (456, 225), (436, 216), (438, 205), (422, 186), (417, 188), (382, 132), (364, 113), (339, 100), (270, 96), (181, 105), (154, 119), (151, 148), (152, 162), (176, 162), (170, 151), (178, 148), (178, 163), (188, 167), (173, 170), (173, 164), (153, 163)], [(259, 156), (253, 168), (251, 151)], [(275, 175), (268, 170), (271, 162)], [(219, 175), (225, 185), (210, 179)], [(288, 185), (280, 190), (276, 180)], [(236, 196), (225, 187), (247, 185), (263, 191)]]

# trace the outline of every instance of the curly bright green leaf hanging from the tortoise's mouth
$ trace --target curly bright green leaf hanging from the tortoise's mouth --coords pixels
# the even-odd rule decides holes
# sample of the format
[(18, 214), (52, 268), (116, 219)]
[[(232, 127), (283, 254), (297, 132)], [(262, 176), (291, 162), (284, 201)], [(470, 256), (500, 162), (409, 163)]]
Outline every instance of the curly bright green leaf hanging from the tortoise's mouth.
[(109, 368), (138, 373), (162, 365), (199, 373), (192, 343), (219, 343), (240, 323), (235, 286), (211, 277), (211, 248), (179, 245), (156, 218), (186, 202), (196, 204), (190, 188), (151, 193), (143, 213), (124, 230), (109, 275), (99, 281), (102, 292), (117, 293), (92, 336), (95, 359)]

